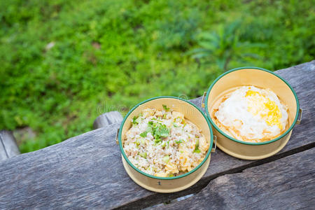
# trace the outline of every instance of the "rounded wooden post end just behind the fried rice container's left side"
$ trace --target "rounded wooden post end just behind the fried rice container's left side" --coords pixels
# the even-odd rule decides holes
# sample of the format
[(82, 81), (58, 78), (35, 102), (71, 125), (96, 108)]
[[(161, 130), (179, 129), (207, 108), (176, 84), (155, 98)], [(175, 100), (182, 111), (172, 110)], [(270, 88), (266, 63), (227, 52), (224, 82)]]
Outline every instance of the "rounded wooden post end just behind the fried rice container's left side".
[(107, 125), (120, 123), (123, 121), (123, 116), (118, 111), (110, 111), (98, 116), (93, 123), (93, 128), (106, 127)]

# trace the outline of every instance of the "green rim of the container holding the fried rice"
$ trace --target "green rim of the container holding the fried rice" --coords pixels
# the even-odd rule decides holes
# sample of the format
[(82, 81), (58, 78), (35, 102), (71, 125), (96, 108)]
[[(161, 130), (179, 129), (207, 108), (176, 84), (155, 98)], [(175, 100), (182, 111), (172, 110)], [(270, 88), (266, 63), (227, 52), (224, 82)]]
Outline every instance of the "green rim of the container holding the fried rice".
[[(146, 102), (150, 102), (152, 100), (155, 100), (155, 99), (162, 99), (162, 98), (170, 98), (170, 99), (179, 99), (183, 102), (186, 102), (190, 105), (193, 105), (198, 111), (200, 111), (200, 113), (202, 113), (202, 116), (204, 116), (204, 119), (207, 121), (207, 124), (208, 124), (208, 127), (209, 127), (209, 130), (210, 130), (210, 139), (211, 139), (211, 142), (210, 142), (210, 145), (209, 145), (209, 149), (208, 149), (208, 152), (207, 152), (207, 155), (204, 157), (204, 160), (202, 160), (202, 162), (200, 162), (199, 165), (197, 165), (197, 167), (195, 167), (195, 169), (191, 170), (190, 172), (187, 172), (186, 174), (181, 174), (179, 176), (173, 176), (173, 177), (160, 177), (160, 176), (153, 176), (153, 175), (150, 175), (150, 174), (146, 174), (145, 172), (142, 172), (140, 169), (138, 169), (137, 167), (135, 167), (132, 162), (130, 162), (130, 160), (127, 158), (127, 155), (125, 154), (125, 151), (123, 149), (123, 144), (122, 144), (122, 141), (121, 141), (121, 135), (122, 135), (122, 131), (123, 131), (123, 126), (125, 125), (125, 121), (127, 120), (128, 116), (130, 116), (130, 114), (134, 111), (134, 109), (137, 109), (138, 106), (140, 106), (141, 104), (145, 104)], [(206, 162), (206, 160), (209, 158), (209, 155), (211, 153), (211, 149), (212, 149), (212, 146), (213, 146), (213, 143), (214, 143), (214, 135), (213, 135), (213, 132), (212, 132), (212, 129), (211, 129), (211, 124), (209, 122), (209, 119), (207, 118), (207, 116), (204, 115), (204, 113), (201, 111), (200, 108), (198, 108), (195, 104), (191, 103), (191, 102), (188, 102), (187, 100), (185, 99), (181, 99), (179, 97), (172, 97), (172, 96), (160, 96), (160, 97), (153, 97), (151, 99), (146, 99), (144, 102), (140, 102), (139, 104), (137, 104), (136, 106), (134, 106), (128, 113), (127, 115), (125, 116), (125, 118), (123, 119), (123, 122), (121, 123), (120, 125), (120, 130), (119, 130), (119, 133), (118, 133), (118, 141), (119, 141), (119, 147), (120, 147), (120, 151), (121, 153), (123, 154), (123, 157), (125, 158), (125, 160), (127, 161), (127, 163), (133, 168), (135, 169), (137, 172), (139, 172), (140, 174), (143, 174), (144, 176), (148, 176), (150, 178), (153, 178), (153, 179), (164, 179), (164, 180), (172, 180), (172, 179), (180, 179), (184, 176), (188, 176), (189, 174), (192, 174), (193, 172), (197, 171), (197, 169), (199, 169), (202, 165), (204, 165), (204, 162)]]

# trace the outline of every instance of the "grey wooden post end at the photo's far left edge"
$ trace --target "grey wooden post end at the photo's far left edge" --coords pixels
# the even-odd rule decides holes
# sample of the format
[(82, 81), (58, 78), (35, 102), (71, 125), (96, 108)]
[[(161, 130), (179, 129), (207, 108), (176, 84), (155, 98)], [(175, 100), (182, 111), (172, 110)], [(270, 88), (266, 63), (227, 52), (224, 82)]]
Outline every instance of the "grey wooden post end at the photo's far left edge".
[(18, 145), (12, 132), (7, 130), (0, 131), (0, 162), (20, 154)]

